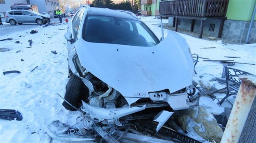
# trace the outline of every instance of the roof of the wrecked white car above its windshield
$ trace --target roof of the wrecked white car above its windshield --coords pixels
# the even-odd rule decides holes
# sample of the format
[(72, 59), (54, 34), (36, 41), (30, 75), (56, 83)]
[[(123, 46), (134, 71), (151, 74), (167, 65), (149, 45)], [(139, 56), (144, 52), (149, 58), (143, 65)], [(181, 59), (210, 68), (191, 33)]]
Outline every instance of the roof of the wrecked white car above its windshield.
[[(85, 9), (85, 11), (87, 11), (86, 7), (83, 7), (83, 8)], [(115, 11), (108, 8), (96, 8), (96, 7), (90, 7), (89, 11), (87, 11), (88, 15), (102, 15), (102, 16), (119, 17), (124, 19), (133, 19), (133, 20), (140, 21), (137, 17), (128, 13), (126, 13), (125, 11), (121, 12), (121, 11)]]

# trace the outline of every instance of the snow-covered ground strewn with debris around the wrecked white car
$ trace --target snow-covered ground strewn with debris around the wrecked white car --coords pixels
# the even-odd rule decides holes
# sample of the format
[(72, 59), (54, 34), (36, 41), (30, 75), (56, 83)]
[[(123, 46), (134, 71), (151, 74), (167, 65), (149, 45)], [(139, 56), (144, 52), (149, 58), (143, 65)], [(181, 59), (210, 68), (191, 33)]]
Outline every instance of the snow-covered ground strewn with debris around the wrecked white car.
[[(159, 19), (141, 17), (141, 20), (145, 21), (158, 38), (161, 37), (161, 29), (156, 25)], [(167, 23), (167, 20), (163, 23)], [(63, 100), (56, 94), (59, 93), (64, 97), (65, 85), (68, 81), (67, 46), (64, 38), (66, 28), (67, 23), (55, 23), (48, 27), (38, 25), (33, 28), (38, 31), (35, 34), (29, 33), (33, 29), (26, 29), (0, 35), (0, 39), (13, 38), (13, 40), (0, 41), (0, 48), (9, 49), (9, 51), (0, 52), (0, 71), (19, 70), (21, 72), (20, 74), (0, 74), (0, 109), (16, 109), (23, 116), (22, 121), (0, 119), (0, 143), (52, 142), (46, 133), (46, 126), (51, 121), (60, 120), (66, 124), (76, 124), (76, 118), (80, 116), (80, 112), (67, 111), (61, 105)], [(167, 31), (165, 29), (165, 36)], [(256, 44), (223, 44), (221, 41), (212, 42), (180, 35), (187, 40), (191, 53), (197, 53), (200, 57), (256, 63)], [(31, 46), (28, 40), (33, 41)], [(16, 41), (20, 43), (15, 43)], [(57, 54), (51, 51), (56, 51)], [(224, 56), (241, 58), (230, 59)], [(256, 74), (255, 65), (235, 64), (233, 67)], [(195, 79), (199, 79), (199, 76), (204, 73), (207, 73), (204, 74), (206, 75), (204, 79), (211, 75), (219, 77), (222, 68), (221, 63), (199, 59), (195, 67), (197, 71)], [(223, 107), (208, 97), (202, 97), (200, 105), (207, 107), (211, 113), (223, 111)], [(200, 137), (195, 138), (200, 139)]]

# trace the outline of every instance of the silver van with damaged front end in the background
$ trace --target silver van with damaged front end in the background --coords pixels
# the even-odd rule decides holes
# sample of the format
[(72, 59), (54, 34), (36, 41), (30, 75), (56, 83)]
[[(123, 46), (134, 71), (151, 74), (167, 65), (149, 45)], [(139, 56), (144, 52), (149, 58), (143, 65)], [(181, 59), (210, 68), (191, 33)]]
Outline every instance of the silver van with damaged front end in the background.
[(28, 10), (13, 10), (7, 11), (5, 14), (5, 21), (11, 25), (22, 24), (22, 23), (37, 23), (46, 24), (50, 23), (49, 15), (42, 15), (35, 11)]

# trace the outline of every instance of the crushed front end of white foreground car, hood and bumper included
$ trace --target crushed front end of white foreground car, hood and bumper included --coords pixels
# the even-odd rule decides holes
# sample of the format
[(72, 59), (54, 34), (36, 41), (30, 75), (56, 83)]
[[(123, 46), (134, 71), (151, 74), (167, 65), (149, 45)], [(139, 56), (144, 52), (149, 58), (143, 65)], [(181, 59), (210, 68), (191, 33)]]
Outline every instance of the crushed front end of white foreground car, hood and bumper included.
[(96, 122), (122, 126), (124, 120), (160, 116), (163, 110), (166, 121), (174, 111), (198, 104), (198, 98), (188, 98), (194, 73), (190, 48), (174, 32), (150, 47), (82, 39), (75, 47), (69, 67), (89, 89), (82, 111)]

